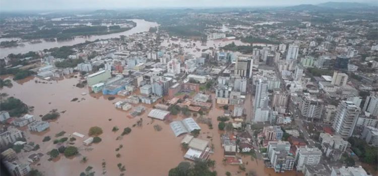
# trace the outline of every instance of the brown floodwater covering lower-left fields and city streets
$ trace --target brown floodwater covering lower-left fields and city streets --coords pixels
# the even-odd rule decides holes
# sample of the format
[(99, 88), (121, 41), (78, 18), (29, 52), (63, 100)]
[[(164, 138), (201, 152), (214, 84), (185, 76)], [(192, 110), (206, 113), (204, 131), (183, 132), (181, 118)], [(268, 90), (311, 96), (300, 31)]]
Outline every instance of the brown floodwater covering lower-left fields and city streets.
[[(44, 81), (48, 83), (35, 83), (34, 80)], [(59, 81), (45, 81), (39, 78), (29, 77), (21, 81), (13, 81), (13, 87), (4, 87), (1, 92), (7, 93), (9, 96), (14, 96), (21, 99), (29, 106), (34, 106), (34, 112), (31, 113), (40, 119), (39, 115), (44, 115), (52, 109), (57, 109), (61, 113), (60, 117), (50, 122), (50, 128), (42, 133), (30, 133), (24, 130), (24, 134), (28, 141), (34, 141), (40, 145), (37, 152), (45, 154), (38, 163), (33, 164), (32, 167), (42, 171), (45, 175), (79, 175), (87, 166), (92, 166), (96, 175), (102, 173), (102, 161), (106, 162), (105, 175), (119, 175), (121, 172), (117, 167), (117, 163), (125, 165), (127, 175), (168, 175), (170, 168), (177, 166), (181, 161), (184, 161), (184, 151), (181, 150), (180, 141), (184, 135), (175, 137), (169, 127), (169, 123), (151, 120), (147, 117), (152, 105), (146, 106), (148, 109), (141, 116), (134, 119), (128, 118), (124, 112), (116, 110), (115, 102), (120, 101), (123, 97), (115, 96), (112, 101), (107, 100), (107, 97), (101, 94), (90, 95), (88, 87), (78, 88), (74, 86), (79, 81), (79, 78), (65, 78)], [(87, 95), (82, 96), (82, 93)], [(214, 95), (213, 105), (215, 105)], [(80, 102), (71, 102), (72, 99), (78, 98)], [(85, 100), (82, 100), (84, 98)], [(249, 101), (250, 96), (247, 96)], [(248, 104), (249, 106), (249, 104)], [(223, 115), (223, 110), (213, 106), (209, 114), (206, 115), (212, 118), (214, 129), (209, 129), (207, 125), (200, 124), (202, 132), (200, 138), (205, 140), (207, 136), (211, 136), (210, 141), (214, 144), (214, 154), (210, 155), (211, 159), (216, 161), (215, 170), (218, 175), (224, 175), (226, 171), (230, 171), (232, 175), (245, 175), (245, 172), (237, 173), (239, 168), (237, 165), (223, 165), (223, 149), (221, 147), (220, 134), (217, 129), (216, 117)], [(116, 140), (120, 136), (123, 128), (132, 127), (137, 121), (142, 118), (143, 126), (132, 128), (129, 135), (125, 135), (120, 140)], [(178, 116), (176, 119), (183, 117)], [(109, 121), (111, 119), (111, 121)], [(152, 124), (151, 124), (152, 122)], [(161, 131), (155, 131), (153, 126), (160, 125)], [(100, 135), (102, 141), (98, 144), (92, 144), (91, 151), (86, 151), (83, 147), (83, 141), (88, 137), (88, 130), (92, 126), (99, 126), (103, 130)], [(112, 132), (112, 128), (117, 126), (119, 131)], [(55, 134), (60, 131), (67, 133), (62, 137), (69, 137), (74, 132), (79, 132), (86, 135), (84, 138), (76, 137), (75, 146), (79, 148), (81, 155), (86, 156), (88, 161), (82, 163), (80, 160), (82, 156), (73, 158), (66, 158), (60, 156), (59, 159), (48, 161), (46, 152), (58, 145), (53, 144), (56, 139)], [(44, 136), (50, 136), (51, 140), (42, 142)], [(61, 137), (59, 137), (61, 138)], [(115, 151), (120, 144), (123, 145), (119, 151)], [(116, 154), (120, 153), (121, 157), (117, 158)], [(22, 153), (21, 158), (27, 159), (31, 152)], [(243, 162), (248, 161), (246, 170), (254, 170), (257, 175), (302, 175), (295, 171), (288, 171), (285, 173), (274, 173), (273, 169), (266, 168), (262, 160), (251, 161), (250, 157), (243, 157)]]

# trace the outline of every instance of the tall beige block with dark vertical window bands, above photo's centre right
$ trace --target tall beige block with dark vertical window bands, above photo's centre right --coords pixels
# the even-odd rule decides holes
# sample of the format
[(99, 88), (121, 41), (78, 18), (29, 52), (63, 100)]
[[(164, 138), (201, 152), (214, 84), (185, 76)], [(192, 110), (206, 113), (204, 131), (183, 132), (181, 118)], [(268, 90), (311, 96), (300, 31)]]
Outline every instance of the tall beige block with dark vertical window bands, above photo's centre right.
[(252, 77), (253, 63), (253, 59), (246, 56), (239, 56), (235, 62), (235, 74), (242, 77)]

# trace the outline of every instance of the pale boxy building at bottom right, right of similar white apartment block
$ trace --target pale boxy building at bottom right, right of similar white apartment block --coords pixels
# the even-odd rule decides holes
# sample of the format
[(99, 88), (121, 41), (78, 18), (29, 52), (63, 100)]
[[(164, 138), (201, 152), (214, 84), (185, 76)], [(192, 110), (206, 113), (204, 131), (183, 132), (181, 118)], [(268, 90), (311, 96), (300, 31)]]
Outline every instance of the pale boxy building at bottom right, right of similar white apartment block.
[(319, 164), (322, 156), (322, 151), (318, 148), (308, 148), (307, 146), (297, 148), (295, 154), (295, 163), (297, 170), (302, 170), (304, 164), (316, 165)]

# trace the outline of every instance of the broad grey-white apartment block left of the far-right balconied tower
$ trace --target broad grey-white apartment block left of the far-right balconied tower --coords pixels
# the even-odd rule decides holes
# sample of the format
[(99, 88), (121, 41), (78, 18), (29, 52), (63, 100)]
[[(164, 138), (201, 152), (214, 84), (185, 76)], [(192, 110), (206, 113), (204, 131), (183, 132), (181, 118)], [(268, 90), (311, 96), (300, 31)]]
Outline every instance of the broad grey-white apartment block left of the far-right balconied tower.
[(302, 118), (307, 120), (319, 120), (322, 117), (324, 102), (321, 99), (309, 95), (302, 96), (299, 103), (299, 110)]

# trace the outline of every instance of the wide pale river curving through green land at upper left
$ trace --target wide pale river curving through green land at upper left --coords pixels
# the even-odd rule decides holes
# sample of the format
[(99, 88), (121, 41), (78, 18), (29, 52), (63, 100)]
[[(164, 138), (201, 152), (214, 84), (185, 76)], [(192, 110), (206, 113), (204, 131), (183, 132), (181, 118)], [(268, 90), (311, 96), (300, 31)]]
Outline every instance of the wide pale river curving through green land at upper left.
[[(146, 32), (150, 29), (150, 27), (156, 27), (158, 26), (155, 22), (148, 22), (141, 19), (132, 19), (131, 21), (134, 21), (137, 23), (137, 26), (124, 32), (119, 33), (113, 33), (113, 34), (106, 34), (106, 35), (92, 35), (88, 37), (80, 36), (75, 37), (74, 40), (67, 40), (67, 41), (55, 41), (55, 42), (46, 42), (44, 40), (41, 40), (42, 43), (35, 43), (30, 44), (29, 42), (22, 42), (24, 46), (17, 46), (17, 47), (10, 47), (10, 48), (1, 48), (0, 49), (0, 58), (6, 57), (11, 53), (18, 54), (18, 53), (27, 53), (29, 51), (39, 51), (43, 49), (50, 49), (54, 47), (61, 47), (61, 46), (71, 46), (76, 45), (79, 43), (84, 43), (85, 41), (94, 41), (97, 39), (109, 39), (109, 38), (117, 38), (121, 35), (129, 36), (132, 34), (140, 33), (140, 32)], [(20, 40), (19, 38), (4, 38), (0, 39), (0, 41), (9, 41), (9, 40)]]

